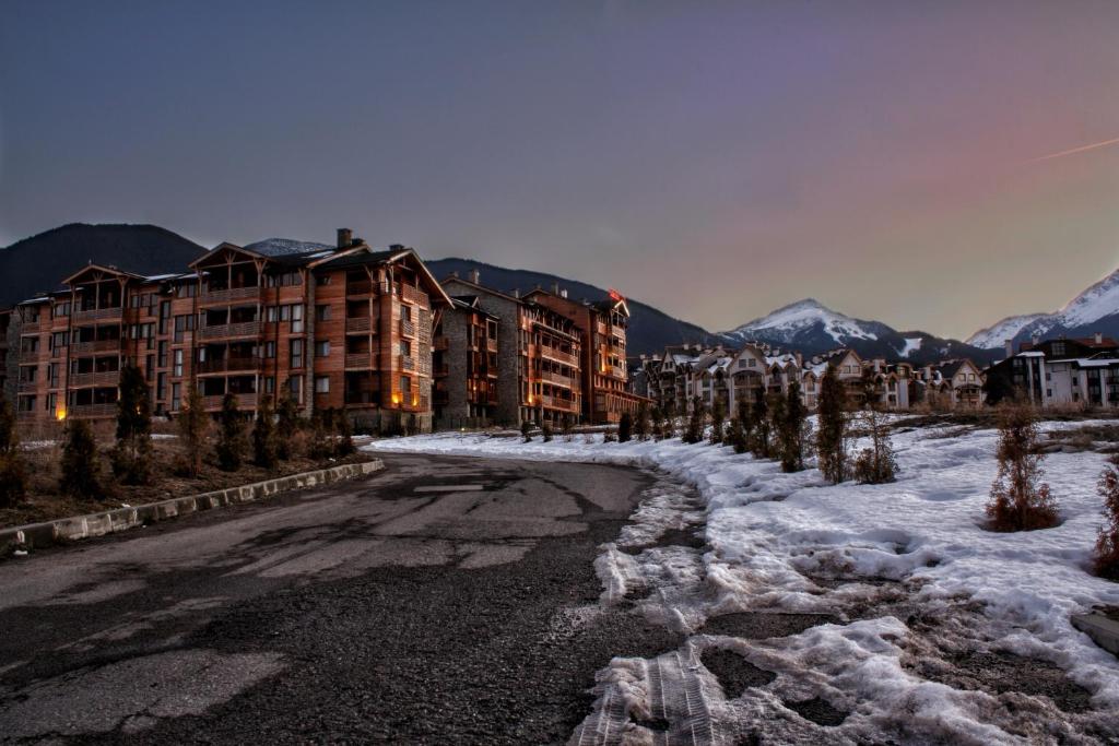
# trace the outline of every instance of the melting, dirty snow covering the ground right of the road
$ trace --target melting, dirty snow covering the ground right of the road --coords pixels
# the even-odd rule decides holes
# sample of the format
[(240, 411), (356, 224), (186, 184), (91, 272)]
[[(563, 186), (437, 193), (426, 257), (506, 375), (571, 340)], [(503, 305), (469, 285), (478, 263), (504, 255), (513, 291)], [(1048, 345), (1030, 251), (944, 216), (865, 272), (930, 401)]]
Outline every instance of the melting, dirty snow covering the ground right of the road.
[[(1046, 423), (1043, 432), (1083, 424)], [(763, 735), (777, 740), (827, 734), (836, 743), (989, 744), (1119, 734), (1119, 661), (1070, 623), (1071, 614), (1119, 605), (1119, 585), (1087, 572), (1101, 520), (1096, 480), (1104, 456), (1047, 456), (1046, 480), (1060, 501), (1061, 526), (994, 533), (981, 522), (996, 472), (996, 441), (991, 429), (901, 429), (893, 438), (899, 480), (882, 485), (833, 485), (815, 469), (784, 474), (774, 462), (678, 438), (620, 444), (576, 435), (544, 443), (536, 436), (523, 443), (508, 434), (436, 434), (366, 447), (632, 464), (696, 488), (699, 510), (706, 510), (699, 559), (680, 548), (637, 557), (621, 550), (695, 520), (695, 506), (674, 504), (673, 491), (665, 490), (653, 492), (629, 535), (608, 545), (596, 563), (608, 601), (624, 595), (642, 575), (674, 586), (660, 593), (661, 603), (675, 605), (661, 610), (669, 612), (661, 621), (693, 635), (675, 659), (612, 661), (600, 673), (600, 708), (624, 701), (621, 711), (631, 715), (657, 710), (649, 692), (671, 676), (681, 687), (707, 692), (704, 721), (713, 724), (713, 733), (722, 727), (727, 738), (743, 719), (764, 723)], [(702, 588), (683, 591), (688, 583)], [(708, 617), (764, 611), (826, 613), (838, 622), (762, 641), (702, 633)], [(777, 680), (741, 697), (712, 695), (718, 691), (714, 680), (680, 658), (694, 661), (712, 645), (733, 649), (778, 673)], [(1068, 712), (1049, 700), (946, 683), (955, 673), (944, 661), (957, 660), (953, 655), (1006, 653), (1062, 669), (1091, 695), (1091, 707)], [(922, 676), (930, 670), (943, 676)], [(1007, 697), (1018, 699), (1008, 703)], [(850, 715), (825, 729), (782, 705), (812, 698)]]

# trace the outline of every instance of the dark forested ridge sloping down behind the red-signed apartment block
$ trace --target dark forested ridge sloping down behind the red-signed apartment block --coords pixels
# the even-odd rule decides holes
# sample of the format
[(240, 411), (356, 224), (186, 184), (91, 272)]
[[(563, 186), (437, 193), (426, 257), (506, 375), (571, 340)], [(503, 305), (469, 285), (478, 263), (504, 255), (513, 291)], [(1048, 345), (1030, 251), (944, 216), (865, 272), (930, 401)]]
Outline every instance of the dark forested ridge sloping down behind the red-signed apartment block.
[[(432, 274), (441, 281), (452, 272), (458, 272), (460, 276), (466, 278), (469, 276), (471, 270), (478, 270), (481, 273), (482, 285), (505, 292), (519, 289), (524, 294), (537, 286), (551, 290), (554, 283), (558, 283), (560, 287), (566, 290), (567, 295), (575, 300), (601, 301), (606, 298), (608, 293), (602, 287), (595, 287), (583, 282), (575, 282), (543, 272), (507, 270), (472, 259), (446, 258), (432, 259), (425, 263)], [(623, 295), (626, 294), (624, 287), (619, 290)], [(642, 352), (658, 352), (664, 350), (666, 344), (680, 344), (684, 342), (714, 344), (725, 341), (717, 334), (712, 334), (687, 321), (674, 319), (651, 305), (646, 305), (631, 298), (627, 298), (627, 301), (631, 314), (629, 332), (626, 336), (627, 351), (631, 356)]]

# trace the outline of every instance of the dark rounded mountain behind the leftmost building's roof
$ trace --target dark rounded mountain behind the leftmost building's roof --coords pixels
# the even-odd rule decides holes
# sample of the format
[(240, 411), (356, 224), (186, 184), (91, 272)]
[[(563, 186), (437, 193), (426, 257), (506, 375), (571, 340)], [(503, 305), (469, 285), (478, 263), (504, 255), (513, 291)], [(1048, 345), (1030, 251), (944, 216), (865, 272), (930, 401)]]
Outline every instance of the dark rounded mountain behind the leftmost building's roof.
[(72, 223), (0, 249), (0, 306), (55, 290), (93, 262), (134, 272), (186, 272), (206, 249), (153, 225)]

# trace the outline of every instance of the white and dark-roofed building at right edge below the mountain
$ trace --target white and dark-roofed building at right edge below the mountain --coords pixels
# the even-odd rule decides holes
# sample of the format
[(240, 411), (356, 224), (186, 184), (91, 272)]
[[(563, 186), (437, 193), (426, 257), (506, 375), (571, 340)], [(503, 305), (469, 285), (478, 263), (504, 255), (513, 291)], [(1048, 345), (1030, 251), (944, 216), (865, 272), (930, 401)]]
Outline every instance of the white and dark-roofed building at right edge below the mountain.
[(986, 370), (989, 400), (1028, 399), (1041, 407), (1119, 408), (1119, 343), (1084, 339), (1006, 342), (1006, 358)]

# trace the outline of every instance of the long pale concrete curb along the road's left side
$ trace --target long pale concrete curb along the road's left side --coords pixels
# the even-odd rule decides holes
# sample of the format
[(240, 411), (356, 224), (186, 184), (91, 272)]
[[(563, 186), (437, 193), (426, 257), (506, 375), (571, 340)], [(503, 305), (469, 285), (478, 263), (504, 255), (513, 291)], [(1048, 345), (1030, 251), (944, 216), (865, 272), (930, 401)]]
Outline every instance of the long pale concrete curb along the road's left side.
[(53, 544), (75, 541), (94, 536), (104, 536), (124, 531), (137, 526), (188, 516), (203, 510), (223, 508), (242, 502), (252, 502), (269, 498), (280, 492), (298, 490), (307, 487), (319, 487), (342, 480), (357, 479), (378, 472), (385, 468), (380, 459), (359, 464), (342, 464), (313, 472), (290, 474), (263, 482), (231, 487), (214, 492), (203, 492), (185, 498), (171, 498), (151, 502), (135, 508), (116, 508), (88, 516), (59, 518), (43, 523), (30, 523), (15, 528), (0, 529), (0, 557), (6, 557), (16, 547), (23, 545), (29, 548), (46, 547)]

